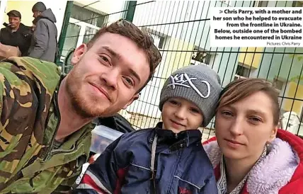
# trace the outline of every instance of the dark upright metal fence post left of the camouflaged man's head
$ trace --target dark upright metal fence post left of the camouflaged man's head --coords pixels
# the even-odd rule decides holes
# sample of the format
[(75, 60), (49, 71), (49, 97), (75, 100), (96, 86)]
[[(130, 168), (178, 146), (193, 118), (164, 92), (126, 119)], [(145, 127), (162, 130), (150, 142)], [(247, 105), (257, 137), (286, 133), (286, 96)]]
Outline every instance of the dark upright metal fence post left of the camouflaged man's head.
[[(60, 57), (62, 55), (63, 45), (64, 45), (65, 37), (67, 35), (67, 27), (69, 25), (69, 17), (71, 16), (71, 13), (72, 13), (73, 4), (74, 4), (74, 1), (67, 1), (67, 7), (65, 8), (64, 21), (63, 21), (62, 30), (61, 30), (61, 33), (59, 36), (59, 41), (58, 41)], [(60, 57), (56, 61), (57, 65), (62, 65), (60, 62)]]

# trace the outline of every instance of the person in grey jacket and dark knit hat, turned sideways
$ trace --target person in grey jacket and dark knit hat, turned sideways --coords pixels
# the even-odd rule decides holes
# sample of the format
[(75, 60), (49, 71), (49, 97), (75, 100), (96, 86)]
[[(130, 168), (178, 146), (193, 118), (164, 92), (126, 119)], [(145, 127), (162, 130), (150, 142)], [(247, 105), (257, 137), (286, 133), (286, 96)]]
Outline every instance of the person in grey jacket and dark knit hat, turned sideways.
[(56, 17), (50, 8), (38, 2), (33, 6), (35, 31), (30, 43), (29, 57), (55, 62), (57, 52)]

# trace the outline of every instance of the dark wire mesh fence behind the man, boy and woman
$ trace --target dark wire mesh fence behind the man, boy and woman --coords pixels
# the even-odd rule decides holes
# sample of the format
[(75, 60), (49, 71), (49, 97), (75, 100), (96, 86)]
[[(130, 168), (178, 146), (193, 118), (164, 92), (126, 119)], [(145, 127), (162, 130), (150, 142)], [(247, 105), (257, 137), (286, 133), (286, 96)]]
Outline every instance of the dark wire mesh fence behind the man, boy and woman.
[[(116, 9), (107, 13), (97, 4)], [(62, 47), (62, 62), (67, 58), (64, 71), (70, 69), (69, 50), (90, 40), (103, 25), (127, 18), (150, 33), (163, 56), (139, 99), (122, 112), (133, 126), (152, 127), (161, 120), (160, 91), (171, 72), (187, 65), (205, 64), (219, 74), (222, 87), (241, 77), (260, 77), (273, 82), (280, 91), (282, 127), (303, 135), (303, 48), (210, 47), (212, 8), (227, 6), (289, 7), (302, 6), (302, 1), (122, 1), (118, 6), (110, 1), (90, 4), (74, 1), (69, 21), (64, 23), (67, 27)], [(205, 139), (214, 135), (213, 128), (212, 121), (202, 129)]]

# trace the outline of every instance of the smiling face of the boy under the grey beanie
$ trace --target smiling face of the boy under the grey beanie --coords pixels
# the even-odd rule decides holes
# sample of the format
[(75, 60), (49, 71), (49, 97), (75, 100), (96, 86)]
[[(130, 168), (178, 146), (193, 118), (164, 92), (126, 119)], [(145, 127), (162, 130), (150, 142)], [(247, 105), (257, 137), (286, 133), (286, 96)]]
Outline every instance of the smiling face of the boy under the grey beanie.
[(197, 130), (203, 121), (200, 109), (183, 98), (169, 98), (163, 105), (161, 115), (164, 130), (176, 133)]

